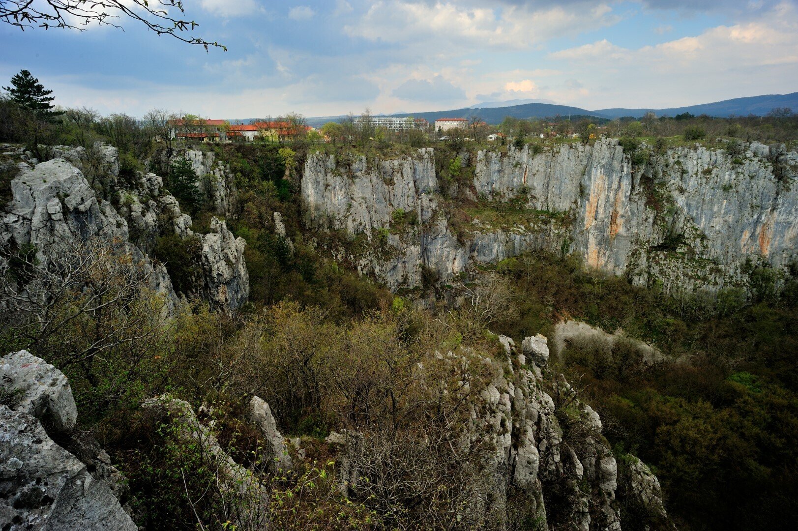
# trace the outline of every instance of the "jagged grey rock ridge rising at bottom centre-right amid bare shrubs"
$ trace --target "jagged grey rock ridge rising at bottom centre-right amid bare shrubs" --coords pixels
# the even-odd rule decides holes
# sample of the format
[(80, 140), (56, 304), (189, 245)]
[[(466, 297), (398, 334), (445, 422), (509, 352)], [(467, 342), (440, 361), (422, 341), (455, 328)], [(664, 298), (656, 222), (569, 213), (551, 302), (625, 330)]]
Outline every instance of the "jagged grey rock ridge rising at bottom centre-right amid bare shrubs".
[[(625, 501), (645, 503), (651, 514), (662, 517), (658, 523), (667, 522), (654, 475), (645, 466), (637, 466), (625, 468), (626, 475), (620, 476), (618, 462), (602, 435), (599, 414), (579, 401), (562, 375), (552, 378), (545, 361), (547, 339), (542, 335), (526, 338), (521, 351), (508, 337), (500, 336), (499, 343), (497, 355), (468, 350), (435, 355), (452, 367), (460, 389), (472, 393), (471, 421), (447, 446), (447, 453), (468, 456), (455, 460), (448, 474), (460, 474), (459, 467), (476, 467), (468, 476), (468, 488), (458, 489), (464, 498), (458, 501), (462, 509), (457, 511), (457, 520), (475, 529), (526, 529), (523, 525), (534, 522), (532, 529), (619, 531), (624, 514), (617, 494), (623, 493)], [(427, 363), (419, 363), (419, 371)], [(485, 372), (492, 376), (480, 382), (476, 374)], [(479, 389), (472, 387), (476, 385)], [(430, 445), (432, 433), (411, 446)], [(386, 485), (380, 477), (382, 462), (396, 458), (389, 446), (395, 438), (374, 442), (373, 437), (367, 431), (347, 431), (326, 439), (340, 453), (339, 479), (347, 495), (401, 492), (406, 486), (401, 482)], [(421, 455), (418, 462), (424, 462)], [(625, 456), (626, 461), (631, 459), (635, 458)], [(407, 474), (414, 486), (414, 481), (423, 480), (410, 471)], [(369, 490), (375, 481), (379, 486)], [(444, 489), (440, 484), (436, 487)]]

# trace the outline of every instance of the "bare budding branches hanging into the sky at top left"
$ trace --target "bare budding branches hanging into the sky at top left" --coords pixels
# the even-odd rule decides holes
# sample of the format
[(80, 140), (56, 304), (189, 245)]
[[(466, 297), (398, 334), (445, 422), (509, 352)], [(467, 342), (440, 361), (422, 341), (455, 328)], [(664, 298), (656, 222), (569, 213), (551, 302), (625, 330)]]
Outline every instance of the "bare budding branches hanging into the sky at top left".
[(227, 51), (218, 42), (207, 42), (203, 38), (189, 37), (183, 32), (195, 30), (199, 24), (194, 21), (175, 18), (170, 15), (177, 11), (184, 14), (182, 0), (2, 0), (0, 20), (22, 31), (39, 26), (49, 28), (70, 28), (85, 30), (89, 24), (100, 26), (117, 25), (118, 18), (132, 18), (159, 35), (170, 35), (188, 44), (215, 46)]

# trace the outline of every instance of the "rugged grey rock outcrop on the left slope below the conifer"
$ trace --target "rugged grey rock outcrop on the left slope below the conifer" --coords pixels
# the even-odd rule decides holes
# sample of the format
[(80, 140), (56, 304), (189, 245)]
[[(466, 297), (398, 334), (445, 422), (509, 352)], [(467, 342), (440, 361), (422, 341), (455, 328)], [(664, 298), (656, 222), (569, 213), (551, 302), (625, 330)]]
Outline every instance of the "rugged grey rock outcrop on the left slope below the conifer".
[[(201, 275), (196, 288), (185, 295), (200, 295), (227, 312), (247, 302), (246, 242), (235, 238), (223, 221), (213, 218), (207, 234), (195, 235), (191, 217), (180, 212), (180, 204), (164, 190), (160, 176), (136, 173), (125, 182), (117, 179), (117, 151), (109, 146), (95, 146), (93, 158), (82, 148), (64, 148), (57, 153), (61, 157), (34, 167), (19, 165), (20, 171), (11, 182), (13, 200), (0, 220), (0, 247), (30, 244), (37, 249), (40, 263), (46, 264), (47, 254), (65, 243), (79, 244), (93, 238), (113, 242), (148, 275), (149, 286), (163, 293), (171, 308), (178, 300), (171, 279), (166, 268), (153, 264), (148, 253), (159, 236), (196, 237), (196, 264)], [(92, 171), (105, 174), (103, 179), (96, 179), (102, 185), (93, 187), (79, 168), (95, 159), (101, 164), (93, 163)], [(98, 190), (109, 194), (117, 207), (102, 199)]]

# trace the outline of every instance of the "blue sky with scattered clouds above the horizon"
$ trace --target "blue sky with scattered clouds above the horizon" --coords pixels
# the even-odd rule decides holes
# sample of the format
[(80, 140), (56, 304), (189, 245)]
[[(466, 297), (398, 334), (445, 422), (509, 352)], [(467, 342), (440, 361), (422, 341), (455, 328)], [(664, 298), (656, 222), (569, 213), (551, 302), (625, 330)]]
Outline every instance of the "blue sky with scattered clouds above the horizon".
[[(39, 2), (41, 0), (34, 0)], [(152, 0), (151, 0), (152, 3)], [(306, 116), (532, 98), (675, 107), (798, 90), (798, 0), (185, 0), (226, 53), (113, 28), (0, 26), (0, 80), (134, 116)]]

